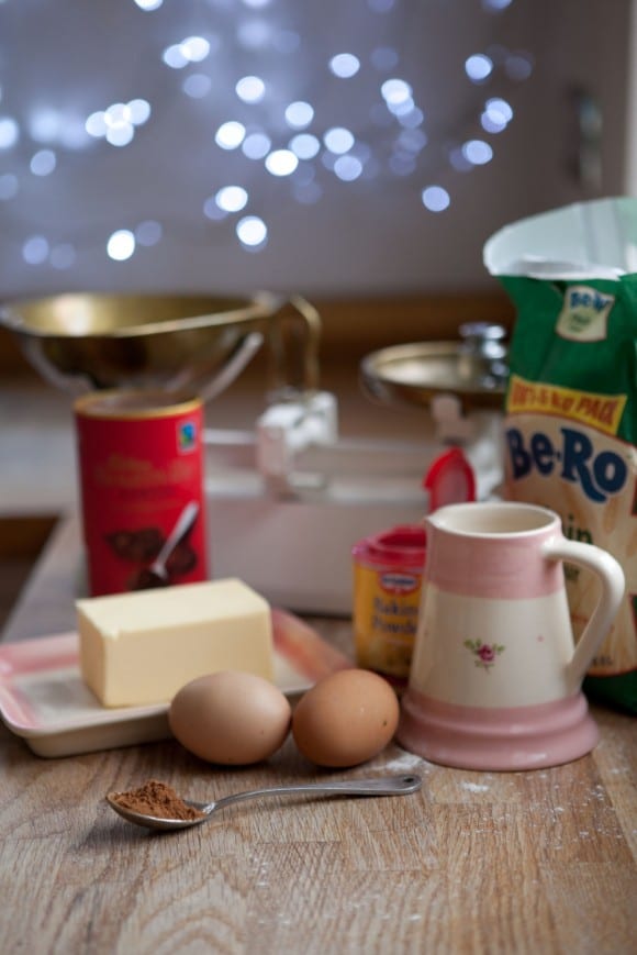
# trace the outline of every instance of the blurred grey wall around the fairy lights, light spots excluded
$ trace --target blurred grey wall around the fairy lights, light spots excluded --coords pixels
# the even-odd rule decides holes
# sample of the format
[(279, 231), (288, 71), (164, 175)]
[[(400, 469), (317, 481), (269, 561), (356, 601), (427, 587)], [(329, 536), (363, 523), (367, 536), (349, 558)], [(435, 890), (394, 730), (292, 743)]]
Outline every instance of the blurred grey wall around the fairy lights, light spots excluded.
[[(482, 245), (501, 225), (563, 202), (637, 188), (635, 124), (625, 143), (627, 24), (635, 2), (513, 0), (500, 13), (485, 12), (477, 0), (396, 0), (384, 13), (368, 0), (254, 2), (180, 0), (154, 12), (133, 0), (0, 3), (0, 115), (20, 125), (16, 144), (0, 149), (0, 190), (2, 176), (14, 176), (19, 187), (0, 201), (0, 298), (69, 288), (270, 288), (325, 296), (487, 287), (492, 279), (482, 266)], [(266, 23), (279, 40), (297, 31), (299, 46), (242, 47), (237, 29), (250, 20)], [(632, 29), (636, 49), (635, 20)], [(197, 33), (221, 37), (214, 56), (186, 70), (161, 63), (166, 46)], [(379, 45), (400, 54), (392, 70), (371, 65)], [(361, 60), (351, 80), (337, 80), (326, 69), (329, 56), (344, 49)], [(477, 87), (463, 63), (482, 51), (495, 58), (502, 51), (526, 51), (534, 71), (513, 82), (499, 68)], [(635, 69), (633, 64), (634, 93)], [(192, 100), (181, 82), (198, 71), (208, 71), (212, 88)], [(269, 99), (259, 110), (238, 103), (233, 91), (236, 79), (253, 71), (269, 81)], [(370, 104), (382, 102), (380, 82), (392, 74), (412, 84), (429, 137), (405, 177), (388, 170), (400, 127), (375, 126), (369, 119)], [(578, 181), (569, 168), (573, 86), (596, 97), (603, 112), (602, 175), (593, 185)], [(479, 115), (492, 96), (504, 96), (515, 115), (505, 132), (490, 136)], [(134, 97), (148, 99), (153, 113), (124, 148), (103, 141), (69, 147), (55, 138), (36, 141), (30, 132), (37, 111), (57, 111), (72, 132), (92, 111)], [(235, 115), (258, 118), (273, 144), (284, 145), (290, 132), (282, 108), (292, 99), (315, 104), (317, 135), (333, 124), (353, 129), (375, 153), (377, 177), (347, 184), (320, 160), (306, 164), (314, 166), (323, 198), (303, 206), (293, 198), (293, 180), (275, 179), (262, 164), (214, 145), (219, 123)], [(492, 144), (493, 160), (454, 171), (448, 149), (472, 136)], [(56, 169), (33, 176), (29, 164), (43, 148), (56, 153)], [(250, 193), (246, 211), (268, 224), (260, 252), (238, 243), (237, 215), (212, 222), (202, 214), (204, 199), (233, 182)], [(428, 212), (421, 202), (431, 182), (451, 196), (444, 213)], [(109, 235), (148, 219), (161, 223), (163, 240), (138, 247), (126, 262), (111, 260)], [(59, 269), (47, 257), (25, 263), (24, 243), (33, 236), (44, 237), (49, 249), (70, 244), (74, 264)]]

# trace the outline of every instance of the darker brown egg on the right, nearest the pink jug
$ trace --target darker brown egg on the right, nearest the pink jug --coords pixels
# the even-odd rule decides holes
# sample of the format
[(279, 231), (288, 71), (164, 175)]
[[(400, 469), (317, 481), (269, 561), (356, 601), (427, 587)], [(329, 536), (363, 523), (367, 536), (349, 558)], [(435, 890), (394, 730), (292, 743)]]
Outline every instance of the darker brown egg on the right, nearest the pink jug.
[(395, 692), (370, 670), (338, 670), (299, 701), (292, 735), (318, 766), (356, 766), (387, 746), (399, 722)]

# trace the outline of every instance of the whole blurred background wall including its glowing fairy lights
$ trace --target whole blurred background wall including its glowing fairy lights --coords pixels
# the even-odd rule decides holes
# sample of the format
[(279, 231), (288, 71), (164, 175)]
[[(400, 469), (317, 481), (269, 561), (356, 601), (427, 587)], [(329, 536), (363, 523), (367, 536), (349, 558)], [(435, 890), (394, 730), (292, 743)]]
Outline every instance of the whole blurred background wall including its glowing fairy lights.
[(484, 286), (625, 191), (630, 5), (0, 0), (0, 296)]

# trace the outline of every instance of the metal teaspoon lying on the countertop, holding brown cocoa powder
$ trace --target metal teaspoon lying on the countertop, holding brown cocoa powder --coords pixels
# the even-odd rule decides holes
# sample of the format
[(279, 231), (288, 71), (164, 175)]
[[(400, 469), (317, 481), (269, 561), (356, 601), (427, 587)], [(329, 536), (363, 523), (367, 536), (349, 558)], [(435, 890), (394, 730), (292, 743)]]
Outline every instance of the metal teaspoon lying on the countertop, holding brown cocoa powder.
[(420, 776), (377, 776), (372, 779), (350, 779), (346, 782), (309, 782), (294, 786), (273, 786), (268, 789), (252, 789), (247, 792), (235, 792), (225, 796), (215, 802), (193, 802), (185, 799), (187, 806), (198, 809), (203, 815), (197, 819), (161, 819), (144, 812), (135, 812), (116, 801), (116, 792), (109, 792), (107, 801), (115, 812), (135, 825), (147, 829), (174, 830), (189, 829), (191, 825), (200, 825), (208, 822), (216, 812), (231, 806), (233, 802), (243, 802), (246, 799), (256, 799), (259, 796), (292, 796), (295, 793), (315, 793), (318, 796), (405, 796), (416, 792), (423, 780)]

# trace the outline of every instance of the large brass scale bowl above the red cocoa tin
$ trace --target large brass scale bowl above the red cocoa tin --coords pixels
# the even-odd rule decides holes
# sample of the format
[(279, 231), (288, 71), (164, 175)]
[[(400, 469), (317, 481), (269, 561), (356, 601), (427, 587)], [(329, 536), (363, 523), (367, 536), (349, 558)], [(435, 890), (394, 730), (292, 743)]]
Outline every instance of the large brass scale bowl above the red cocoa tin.
[[(306, 306), (313, 356), (317, 317)], [(72, 395), (101, 388), (190, 390), (210, 398), (249, 360), (286, 300), (68, 293), (8, 302), (0, 324), (34, 368)]]

